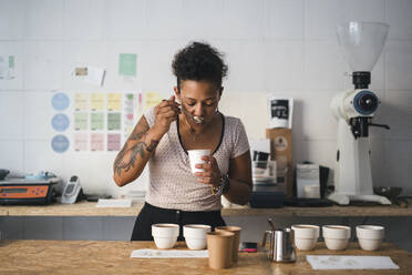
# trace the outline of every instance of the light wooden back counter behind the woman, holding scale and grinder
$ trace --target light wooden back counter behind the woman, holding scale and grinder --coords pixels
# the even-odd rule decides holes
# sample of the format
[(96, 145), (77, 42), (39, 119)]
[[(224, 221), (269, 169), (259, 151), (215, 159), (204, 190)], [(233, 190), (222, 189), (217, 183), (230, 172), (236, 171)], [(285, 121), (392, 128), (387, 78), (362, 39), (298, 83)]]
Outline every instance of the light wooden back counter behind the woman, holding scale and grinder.
[[(45, 206), (0, 206), (0, 216), (136, 216), (141, 204), (126, 208), (97, 208), (96, 203), (80, 202), (71, 205), (51, 204)], [(410, 205), (412, 202), (410, 201)], [(235, 206), (224, 208), (224, 216), (412, 216), (412, 207), (398, 205), (377, 206), (329, 206), (329, 207), (281, 207), (281, 208), (250, 208)]]

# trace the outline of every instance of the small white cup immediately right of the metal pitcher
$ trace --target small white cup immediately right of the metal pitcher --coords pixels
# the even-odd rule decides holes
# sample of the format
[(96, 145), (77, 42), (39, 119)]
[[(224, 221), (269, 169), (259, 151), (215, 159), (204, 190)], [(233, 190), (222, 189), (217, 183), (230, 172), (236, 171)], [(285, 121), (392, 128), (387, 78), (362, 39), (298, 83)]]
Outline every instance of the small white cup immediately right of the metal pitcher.
[(295, 232), (295, 246), (300, 251), (313, 249), (319, 238), (319, 226), (310, 224), (296, 224), (291, 226)]

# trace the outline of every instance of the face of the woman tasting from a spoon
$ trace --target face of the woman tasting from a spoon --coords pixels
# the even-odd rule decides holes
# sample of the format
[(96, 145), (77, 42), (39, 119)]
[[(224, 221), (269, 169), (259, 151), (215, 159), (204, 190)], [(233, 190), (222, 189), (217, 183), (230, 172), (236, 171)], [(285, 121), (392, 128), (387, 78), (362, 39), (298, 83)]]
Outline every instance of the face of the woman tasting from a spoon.
[(174, 89), (183, 114), (192, 126), (200, 129), (213, 120), (223, 88), (216, 89), (208, 81), (184, 80), (181, 81), (181, 91), (177, 86)]

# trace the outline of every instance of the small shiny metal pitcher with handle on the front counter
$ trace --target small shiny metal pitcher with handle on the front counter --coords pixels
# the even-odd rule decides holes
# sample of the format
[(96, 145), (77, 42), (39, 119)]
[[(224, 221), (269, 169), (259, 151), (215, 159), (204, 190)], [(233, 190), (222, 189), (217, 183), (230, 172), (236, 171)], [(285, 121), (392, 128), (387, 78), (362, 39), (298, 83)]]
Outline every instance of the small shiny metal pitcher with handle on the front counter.
[(269, 259), (280, 263), (296, 261), (295, 235), (290, 228), (266, 231), (261, 246), (265, 247), (266, 238), (270, 237)]

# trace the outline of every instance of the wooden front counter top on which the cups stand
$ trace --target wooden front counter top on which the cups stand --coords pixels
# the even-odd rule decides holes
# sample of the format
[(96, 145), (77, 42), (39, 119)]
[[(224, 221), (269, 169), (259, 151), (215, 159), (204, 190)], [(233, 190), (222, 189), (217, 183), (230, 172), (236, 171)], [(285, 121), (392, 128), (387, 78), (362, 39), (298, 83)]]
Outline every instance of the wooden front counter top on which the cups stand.
[[(1, 241), (0, 274), (412, 274), (412, 254), (388, 243), (378, 252), (360, 251), (354, 243), (347, 251), (330, 252), (319, 243), (313, 251), (297, 251), (292, 264), (271, 263), (264, 252), (240, 253), (236, 265), (222, 271), (210, 269), (207, 258), (131, 258), (138, 248), (155, 246), (153, 242)], [(175, 248), (187, 249), (184, 243)], [(307, 254), (384, 255), (400, 269), (312, 271)]]

